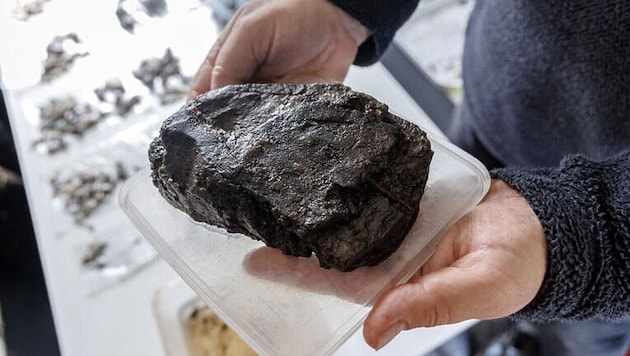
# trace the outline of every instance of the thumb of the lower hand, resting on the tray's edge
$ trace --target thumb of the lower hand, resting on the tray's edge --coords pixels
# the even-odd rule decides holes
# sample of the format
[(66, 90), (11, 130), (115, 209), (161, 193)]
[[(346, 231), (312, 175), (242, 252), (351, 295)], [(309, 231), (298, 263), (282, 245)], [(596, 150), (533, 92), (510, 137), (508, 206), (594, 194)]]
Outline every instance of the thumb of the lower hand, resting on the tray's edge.
[(509, 315), (485, 272), (449, 266), (384, 292), (364, 323), (365, 341), (378, 350), (402, 330)]

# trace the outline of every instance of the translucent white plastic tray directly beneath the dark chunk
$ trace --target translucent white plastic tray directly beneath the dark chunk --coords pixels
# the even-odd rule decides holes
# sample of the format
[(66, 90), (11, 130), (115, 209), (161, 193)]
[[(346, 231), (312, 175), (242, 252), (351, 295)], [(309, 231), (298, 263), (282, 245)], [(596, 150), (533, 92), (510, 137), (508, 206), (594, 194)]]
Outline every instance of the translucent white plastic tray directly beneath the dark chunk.
[(131, 221), (189, 286), (256, 352), (330, 355), (361, 326), (385, 289), (405, 282), (441, 233), (487, 192), (485, 167), (429, 134), (435, 152), (419, 217), (401, 247), (374, 267), (338, 272), (261, 242), (194, 222), (141, 171), (120, 191)]

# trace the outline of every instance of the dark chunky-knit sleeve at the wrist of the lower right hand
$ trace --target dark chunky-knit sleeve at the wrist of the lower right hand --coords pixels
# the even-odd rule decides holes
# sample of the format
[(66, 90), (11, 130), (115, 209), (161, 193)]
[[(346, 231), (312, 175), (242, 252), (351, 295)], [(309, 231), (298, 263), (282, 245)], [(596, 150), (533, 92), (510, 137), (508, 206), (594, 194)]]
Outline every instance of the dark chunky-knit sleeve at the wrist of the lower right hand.
[(558, 169), (494, 170), (527, 199), (547, 238), (532, 321), (630, 315), (630, 150), (608, 161), (567, 157)]

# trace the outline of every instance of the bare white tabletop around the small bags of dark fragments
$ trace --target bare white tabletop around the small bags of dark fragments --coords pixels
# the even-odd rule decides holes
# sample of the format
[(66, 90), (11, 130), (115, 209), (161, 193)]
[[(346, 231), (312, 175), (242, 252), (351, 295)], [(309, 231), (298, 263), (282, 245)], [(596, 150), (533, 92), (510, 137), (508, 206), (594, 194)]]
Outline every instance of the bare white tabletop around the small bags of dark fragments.
[[(181, 57), (182, 67), (190, 72), (200, 62), (216, 36), (212, 26), (208, 26), (207, 14), (196, 10), (194, 20), (203, 20), (204, 23), (180, 20), (176, 38), (166, 35), (160, 38), (157, 33), (161, 32), (153, 32), (152, 35), (151, 31), (142, 32), (142, 29), (134, 38), (121, 32), (112, 23), (115, 21), (113, 11), (116, 3), (113, 0), (56, 0), (45, 4), (44, 13), (33, 17), (29, 22), (18, 22), (10, 16), (14, 5), (12, 2), (5, 1), (0, 5), (0, 43), (4, 46), (4, 50), (0, 51), (0, 63), (5, 80), (5, 99), (22, 166), (59, 344), (62, 354), (70, 356), (164, 354), (152, 302), (155, 291), (178, 276), (164, 261), (158, 259), (121, 283), (96, 294), (85, 293), (85, 272), (78, 263), (77, 249), (85, 243), (89, 232), (72, 227), (70, 220), (51, 204), (50, 187), (46, 181), (52, 170), (63, 166), (63, 163), (62, 160), (55, 161), (32, 149), (31, 142), (36, 137), (32, 112), (24, 110), (25, 102), (39, 100), (41, 95), (50, 95), (59, 89), (59, 86), (54, 89), (41, 88), (37, 84), (39, 63), (43, 58), (45, 45), (54, 35), (79, 29), (85, 29), (85, 39), (90, 41), (85, 43), (86, 46), (96, 43), (95, 47), (90, 48), (91, 56), (101, 56), (100, 59), (86, 63), (86, 67), (77, 62), (74, 69), (80, 72), (98, 66), (101, 71), (85, 70), (82, 73), (88, 74), (68, 79), (67, 82), (64, 82), (65, 79), (61, 80), (59, 84), (78, 90), (77, 88), (93, 88), (90, 85), (96, 83), (94, 78), (128, 71), (132, 68), (132, 63), (137, 63), (139, 56), (155, 56), (158, 53), (155, 49), (161, 50), (165, 44), (172, 45), (175, 54)], [(182, 5), (181, 8), (184, 7)], [(68, 9), (72, 9), (71, 12)], [(200, 43), (203, 45), (197, 47), (204, 48), (191, 50), (190, 46), (178, 48), (175, 45), (177, 39), (190, 38), (193, 35), (201, 37)], [(145, 41), (146, 52), (143, 52), (142, 46), (131, 48), (134, 46), (130, 41), (137, 38)], [(125, 43), (131, 47), (123, 47)], [(129, 49), (129, 52), (116, 49)], [(86, 62), (89, 61), (86, 59)], [(393, 111), (421, 123), (425, 128), (437, 130), (382, 66), (352, 68), (347, 84), (388, 103)], [(156, 116), (159, 119), (160, 115), (165, 115), (173, 108), (148, 108), (138, 116), (146, 115), (147, 121), (156, 120)], [(128, 126), (130, 124), (125, 127)], [(115, 128), (105, 130), (101, 137), (109, 138), (115, 132)], [(115, 218), (108, 223), (115, 225), (116, 231), (136, 233), (133, 225), (124, 218)], [(378, 353), (371, 351), (362, 341), (360, 333), (357, 333), (342, 346), (337, 355), (420, 355), (473, 323), (405, 332)]]

